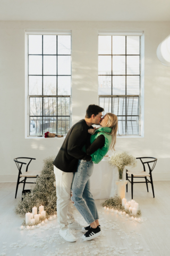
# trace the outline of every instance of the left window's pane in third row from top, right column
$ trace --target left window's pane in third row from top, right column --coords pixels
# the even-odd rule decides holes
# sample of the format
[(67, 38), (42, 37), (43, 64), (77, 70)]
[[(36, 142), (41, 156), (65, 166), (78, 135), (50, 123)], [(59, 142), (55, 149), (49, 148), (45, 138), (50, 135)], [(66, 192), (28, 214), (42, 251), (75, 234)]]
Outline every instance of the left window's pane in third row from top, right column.
[(58, 76), (58, 95), (71, 95), (71, 76)]

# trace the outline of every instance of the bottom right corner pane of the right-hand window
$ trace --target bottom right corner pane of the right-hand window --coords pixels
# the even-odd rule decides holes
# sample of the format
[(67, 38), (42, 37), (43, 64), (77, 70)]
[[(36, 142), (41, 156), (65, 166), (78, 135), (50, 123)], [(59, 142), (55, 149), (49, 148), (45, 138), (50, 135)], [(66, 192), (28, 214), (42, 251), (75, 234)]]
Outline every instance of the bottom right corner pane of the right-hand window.
[(138, 135), (139, 134), (139, 117), (138, 116), (128, 116), (127, 117), (127, 129), (126, 133), (128, 135)]

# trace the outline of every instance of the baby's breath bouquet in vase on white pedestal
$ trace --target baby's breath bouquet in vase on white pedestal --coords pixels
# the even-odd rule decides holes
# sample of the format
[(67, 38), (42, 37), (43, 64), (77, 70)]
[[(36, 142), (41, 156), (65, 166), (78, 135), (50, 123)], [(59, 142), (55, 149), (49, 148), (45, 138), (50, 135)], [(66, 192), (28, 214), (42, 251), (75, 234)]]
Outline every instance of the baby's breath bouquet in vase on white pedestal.
[(117, 151), (108, 160), (112, 166), (117, 166), (120, 180), (123, 179), (123, 170), (126, 165), (137, 166), (136, 158), (127, 152)]

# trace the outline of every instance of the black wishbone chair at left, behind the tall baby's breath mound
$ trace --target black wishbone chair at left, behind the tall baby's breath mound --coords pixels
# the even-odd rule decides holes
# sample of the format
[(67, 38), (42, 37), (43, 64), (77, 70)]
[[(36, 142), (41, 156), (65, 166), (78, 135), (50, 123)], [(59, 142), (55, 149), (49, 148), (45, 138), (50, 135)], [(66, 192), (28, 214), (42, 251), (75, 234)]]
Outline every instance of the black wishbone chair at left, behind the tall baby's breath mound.
[[(30, 161), (27, 164), (27, 163), (23, 163), (23, 162), (18, 161), (18, 159), (30, 159)], [(17, 158), (14, 158), (14, 162), (15, 162), (16, 166), (18, 167), (18, 170), (19, 170), (18, 180), (17, 180), (17, 184), (16, 184), (15, 198), (16, 198), (17, 191), (18, 191), (18, 186), (19, 186), (20, 183), (23, 183), (23, 190), (24, 190), (25, 183), (29, 183), (29, 184), (36, 183), (36, 182), (26, 182), (26, 180), (28, 178), (38, 178), (38, 176), (40, 176), (40, 171), (28, 171), (28, 166), (31, 163), (32, 159), (36, 160), (36, 158), (30, 158), (30, 157), (17, 157)], [(22, 173), (21, 169), (22, 169), (22, 165), (23, 164), (27, 164), (27, 166), (26, 166), (26, 171)], [(20, 181), (20, 178), (22, 178), (22, 177), (24, 179)]]

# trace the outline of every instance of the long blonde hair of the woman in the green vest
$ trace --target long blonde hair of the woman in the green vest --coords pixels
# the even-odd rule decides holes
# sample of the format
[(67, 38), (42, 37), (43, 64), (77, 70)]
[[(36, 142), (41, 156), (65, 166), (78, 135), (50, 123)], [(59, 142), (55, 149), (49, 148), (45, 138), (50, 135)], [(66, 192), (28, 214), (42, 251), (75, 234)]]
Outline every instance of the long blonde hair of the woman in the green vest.
[(108, 133), (110, 135), (112, 135), (112, 141), (111, 141), (111, 145), (109, 147), (109, 149), (114, 149), (115, 150), (115, 145), (116, 145), (116, 136), (117, 136), (117, 130), (118, 130), (118, 119), (117, 116), (112, 114), (112, 113), (106, 113), (106, 115), (108, 116), (108, 120), (107, 120), (107, 124), (105, 125), (105, 127), (110, 127), (112, 128), (111, 133)]

